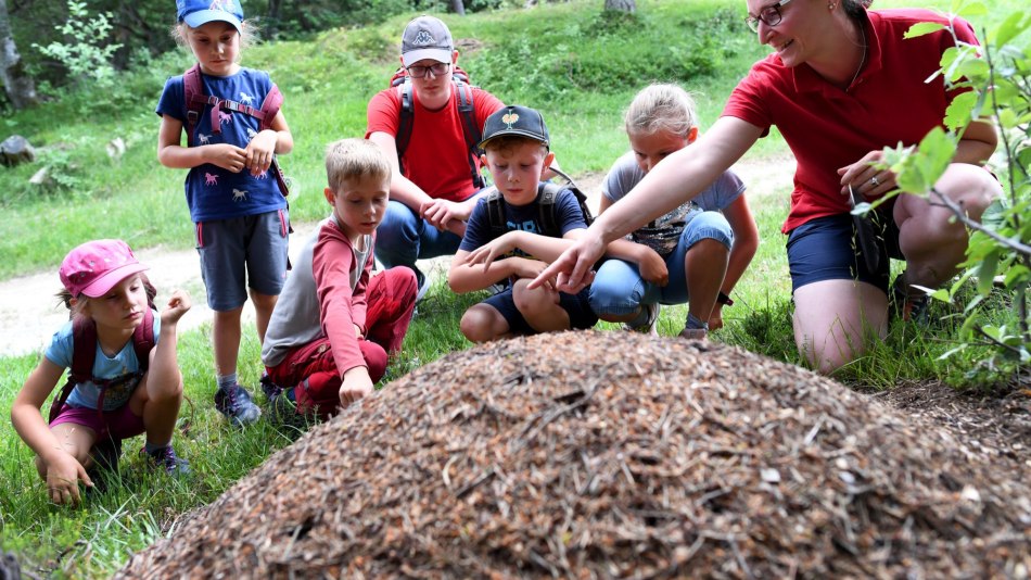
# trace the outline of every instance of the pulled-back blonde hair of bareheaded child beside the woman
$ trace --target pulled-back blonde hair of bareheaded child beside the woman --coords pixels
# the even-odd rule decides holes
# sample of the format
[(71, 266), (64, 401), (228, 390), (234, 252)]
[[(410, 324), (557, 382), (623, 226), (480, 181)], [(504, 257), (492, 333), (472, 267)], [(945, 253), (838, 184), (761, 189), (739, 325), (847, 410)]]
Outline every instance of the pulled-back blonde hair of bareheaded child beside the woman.
[(650, 85), (631, 101), (624, 122), (629, 135), (669, 131), (687, 137), (698, 124), (695, 99), (678, 85)]

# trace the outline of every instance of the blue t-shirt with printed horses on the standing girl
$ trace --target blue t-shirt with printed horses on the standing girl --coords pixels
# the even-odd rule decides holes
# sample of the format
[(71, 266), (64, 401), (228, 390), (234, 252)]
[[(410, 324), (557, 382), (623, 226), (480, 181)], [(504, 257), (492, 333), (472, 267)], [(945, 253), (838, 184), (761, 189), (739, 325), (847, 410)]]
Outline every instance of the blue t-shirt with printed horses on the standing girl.
[[(240, 68), (237, 74), (226, 77), (201, 74), (201, 90), (204, 94), (255, 109), (260, 109), (272, 86), (268, 73), (253, 68)], [(183, 130), (188, 130), (182, 76), (171, 77), (165, 83), (156, 112), (182, 122)], [(245, 149), (260, 130), (257, 117), (225, 109), (218, 112), (218, 124), (221, 133), (216, 134), (212, 130), (212, 106), (205, 105), (193, 131), (193, 144), (230, 143)], [(269, 168), (262, 176), (252, 177), (246, 168), (232, 173), (211, 163), (193, 167), (186, 179), (190, 218), (200, 223), (282, 210), (287, 206), (287, 200), (271, 172)]]

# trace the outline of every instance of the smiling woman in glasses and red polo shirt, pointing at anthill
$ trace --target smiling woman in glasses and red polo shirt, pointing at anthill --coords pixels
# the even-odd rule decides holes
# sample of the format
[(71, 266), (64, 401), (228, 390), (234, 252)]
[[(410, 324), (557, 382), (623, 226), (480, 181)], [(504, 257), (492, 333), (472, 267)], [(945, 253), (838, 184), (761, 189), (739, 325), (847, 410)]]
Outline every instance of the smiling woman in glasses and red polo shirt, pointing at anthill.
[[(869, 165), (884, 147), (915, 144), (942, 125), (955, 92), (940, 75), (925, 79), (955, 42), (947, 30), (903, 39), (918, 22), (946, 23), (926, 10), (867, 11), (869, 0), (746, 3), (750, 27), (774, 53), (752, 66), (704, 136), (653, 168), (538, 281), (559, 273), (571, 289), (589, 281), (607, 242), (697, 196), (775, 125), (798, 161), (782, 227), (795, 343), (815, 368), (830, 373), (862, 355), (870, 333), (884, 337), (889, 302), (908, 317), (924, 297), (913, 285), (938, 287), (964, 259), (965, 227), (924, 198), (899, 196), (875, 217), (877, 248), (868, 253), (877, 260), (863, 255), (849, 213), (850, 188), (868, 200), (895, 188), (891, 172)], [(960, 41), (978, 42), (968, 23), (955, 18), (954, 27)], [(990, 124), (971, 124), (935, 185), (973, 219), (1001, 193), (982, 167), (995, 144)], [(891, 286), (888, 256), (906, 261)]]

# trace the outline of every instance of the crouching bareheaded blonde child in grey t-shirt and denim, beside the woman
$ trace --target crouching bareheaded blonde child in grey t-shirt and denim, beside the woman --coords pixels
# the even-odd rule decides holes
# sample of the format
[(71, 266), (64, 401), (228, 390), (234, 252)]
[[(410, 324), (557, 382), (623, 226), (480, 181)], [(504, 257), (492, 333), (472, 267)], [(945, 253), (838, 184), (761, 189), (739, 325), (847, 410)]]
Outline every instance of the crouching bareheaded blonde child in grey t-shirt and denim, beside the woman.
[[(698, 137), (695, 102), (676, 85), (652, 85), (626, 111), (633, 151), (602, 184), (601, 212), (629, 193), (666, 155)], [(609, 244), (590, 287), (590, 306), (602, 320), (655, 333), (659, 304), (688, 303), (680, 336), (703, 339), (723, 326), (722, 308), (759, 247), (759, 229), (744, 201), (744, 185), (724, 172), (693, 201)]]

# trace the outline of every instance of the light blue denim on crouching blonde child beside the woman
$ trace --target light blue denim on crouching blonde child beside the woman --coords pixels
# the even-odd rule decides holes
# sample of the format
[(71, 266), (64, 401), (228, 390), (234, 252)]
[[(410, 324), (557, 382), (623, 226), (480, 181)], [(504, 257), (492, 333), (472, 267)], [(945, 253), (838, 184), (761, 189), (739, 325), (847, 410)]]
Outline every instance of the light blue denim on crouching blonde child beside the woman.
[(734, 230), (720, 212), (698, 212), (684, 227), (676, 248), (666, 256), (670, 282), (659, 286), (640, 277), (637, 264), (622, 260), (607, 260), (598, 268), (590, 285), (590, 308), (598, 316), (633, 314), (641, 304), (686, 304), (687, 274), (684, 260), (692, 245), (713, 239), (727, 247), (734, 244)]

